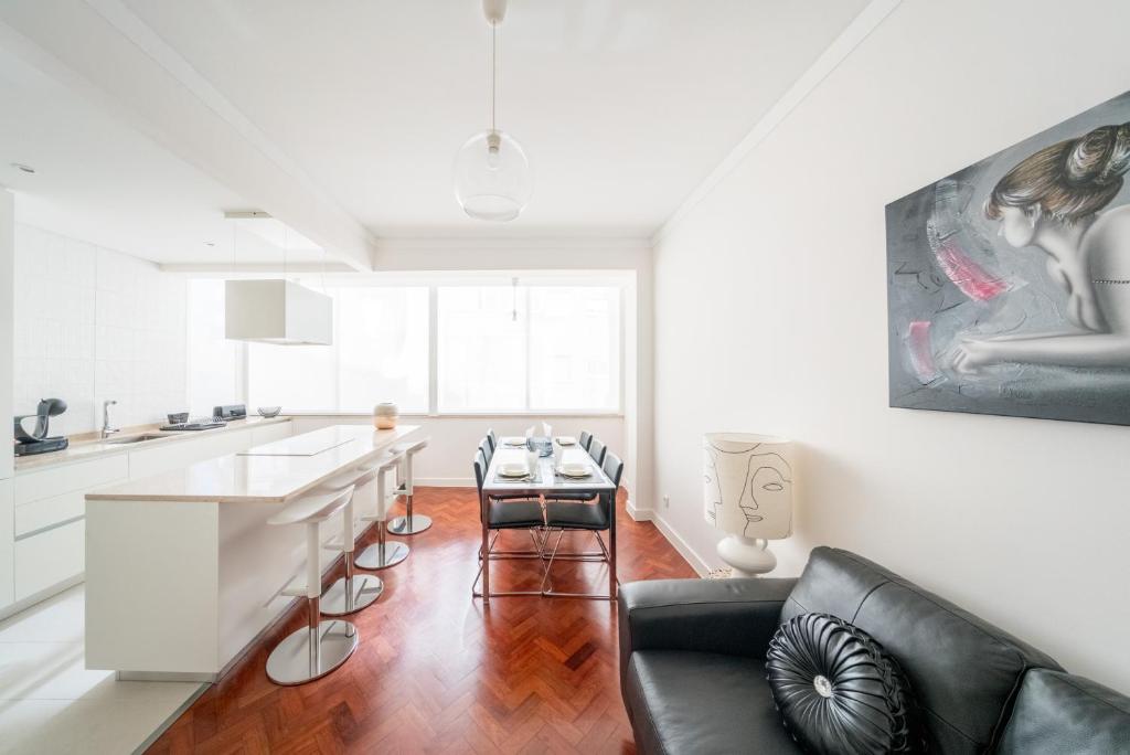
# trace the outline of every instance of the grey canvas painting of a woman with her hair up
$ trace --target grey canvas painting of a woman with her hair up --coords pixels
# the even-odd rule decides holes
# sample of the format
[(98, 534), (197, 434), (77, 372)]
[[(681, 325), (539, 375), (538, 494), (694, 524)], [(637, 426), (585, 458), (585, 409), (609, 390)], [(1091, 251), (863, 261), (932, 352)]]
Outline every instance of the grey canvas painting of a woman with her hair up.
[(887, 206), (890, 406), (1130, 424), (1130, 93)]

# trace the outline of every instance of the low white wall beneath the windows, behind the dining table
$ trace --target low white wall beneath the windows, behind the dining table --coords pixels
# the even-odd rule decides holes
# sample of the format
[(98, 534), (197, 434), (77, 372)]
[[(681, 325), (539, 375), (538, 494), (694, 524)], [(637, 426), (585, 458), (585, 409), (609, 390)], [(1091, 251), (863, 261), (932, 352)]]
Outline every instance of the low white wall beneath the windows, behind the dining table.
[[(308, 433), (319, 427), (330, 425), (367, 425), (372, 417), (360, 415), (296, 415), (294, 416), (294, 433)], [(531, 425), (541, 429), (541, 423), (553, 426), (554, 435), (579, 436), (581, 431), (589, 431), (608, 446), (609, 451), (624, 458), (624, 418), (623, 417), (546, 417), (546, 416), (510, 416), (510, 417), (426, 417), (420, 415), (403, 416), (402, 425), (419, 425), (417, 437), (431, 437), (428, 449), (417, 457), (414, 474), (421, 485), (459, 485), (473, 486), (475, 472), (471, 462), (475, 451), (487, 431), (494, 428), (495, 435), (524, 435)], [(625, 463), (625, 467), (627, 465)], [(625, 472), (626, 474), (626, 472)], [(621, 484), (629, 486), (625, 478)]]

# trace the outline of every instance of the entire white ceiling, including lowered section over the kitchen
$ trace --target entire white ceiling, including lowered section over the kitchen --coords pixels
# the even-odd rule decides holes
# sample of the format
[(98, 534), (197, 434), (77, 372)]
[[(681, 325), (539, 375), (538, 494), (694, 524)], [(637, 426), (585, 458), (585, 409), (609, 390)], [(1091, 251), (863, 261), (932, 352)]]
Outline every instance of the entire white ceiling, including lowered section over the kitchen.
[[(495, 225), (463, 217), (451, 188), (455, 151), (486, 125), (478, 0), (11, 0), (0, 24), (37, 54), (0, 54), (0, 183), (26, 192), (21, 216), (47, 227), (101, 227), (159, 261), (229, 259), (203, 244), (231, 233), (218, 214), (269, 203), (278, 186), (260, 177), (260, 192), (251, 171), (227, 181), (206, 139), (165, 138), (154, 123), (169, 106), (140, 96), (142, 84), (128, 107), (107, 107), (144, 63), (181, 101), (224, 110), (249, 155), (282, 166), (292, 206), (304, 189), (362, 235), (647, 236), (864, 5), (512, 0), (499, 123), (531, 156), (536, 183), (523, 216)], [(52, 36), (82, 12), (106, 29), (82, 20), (92, 31), (80, 41)], [(28, 63), (44, 58), (75, 76), (36, 78)], [(44, 170), (25, 176), (10, 162)], [(287, 222), (319, 241), (319, 223), (338, 219)]]

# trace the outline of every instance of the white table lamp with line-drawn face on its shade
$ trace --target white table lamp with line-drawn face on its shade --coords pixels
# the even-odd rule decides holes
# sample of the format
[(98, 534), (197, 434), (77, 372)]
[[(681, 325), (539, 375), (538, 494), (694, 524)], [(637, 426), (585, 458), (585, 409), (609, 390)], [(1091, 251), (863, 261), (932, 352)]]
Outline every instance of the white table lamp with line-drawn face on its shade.
[(703, 436), (706, 521), (727, 533), (718, 555), (731, 576), (757, 576), (776, 566), (770, 540), (792, 533), (792, 442), (772, 435)]

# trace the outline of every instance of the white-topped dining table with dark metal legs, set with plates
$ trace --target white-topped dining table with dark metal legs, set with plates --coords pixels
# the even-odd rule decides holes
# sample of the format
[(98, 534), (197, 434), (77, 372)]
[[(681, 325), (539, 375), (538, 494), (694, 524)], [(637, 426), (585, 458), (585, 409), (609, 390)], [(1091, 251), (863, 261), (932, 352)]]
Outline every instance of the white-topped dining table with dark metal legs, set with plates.
[[(524, 441), (524, 439), (522, 439)], [(546, 502), (551, 501), (555, 495), (568, 493), (584, 493), (597, 497), (598, 495), (616, 495), (616, 485), (609, 479), (605, 470), (593, 461), (589, 452), (580, 445), (572, 444), (560, 448), (558, 458), (554, 455), (539, 455), (534, 468), (527, 477), (506, 477), (499, 474), (503, 465), (514, 462), (525, 462), (528, 451), (524, 444), (512, 445), (516, 441), (502, 439), (498, 449), (495, 451), (490, 463), (487, 467), (486, 478), (483, 483), (483, 496), (479, 500), (480, 520), (483, 522), (483, 550), (489, 549), (490, 531), (487, 527), (487, 506), (490, 498), (501, 498), (503, 502), (514, 500), (513, 496), (527, 496), (537, 498), (541, 503), (542, 517), (546, 511)], [(560, 467), (573, 463), (588, 463), (590, 471), (588, 477), (567, 477), (560, 471)], [(597, 504), (593, 504), (597, 505)], [(609, 506), (608, 524), (608, 595), (616, 599), (616, 503)], [(542, 597), (551, 597), (548, 590), (541, 591)], [(483, 602), (490, 601), (490, 559), (483, 559)]]

